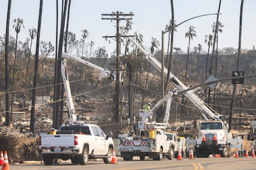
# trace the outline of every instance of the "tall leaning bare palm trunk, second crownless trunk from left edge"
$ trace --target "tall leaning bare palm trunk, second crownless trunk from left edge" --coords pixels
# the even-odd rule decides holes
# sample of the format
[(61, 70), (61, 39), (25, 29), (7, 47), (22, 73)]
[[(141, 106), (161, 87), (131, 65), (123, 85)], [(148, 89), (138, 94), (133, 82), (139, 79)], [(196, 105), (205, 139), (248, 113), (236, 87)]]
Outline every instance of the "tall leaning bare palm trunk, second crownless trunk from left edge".
[(38, 28), (36, 37), (36, 54), (35, 54), (35, 71), (33, 79), (33, 92), (32, 92), (32, 104), (31, 104), (31, 116), (30, 116), (30, 132), (35, 131), (35, 95), (36, 95), (36, 84), (38, 79), (38, 58), (39, 58), (39, 44), (40, 44), (40, 31), (41, 31), (41, 18), (43, 10), (43, 0), (40, 0), (39, 16), (38, 16)]

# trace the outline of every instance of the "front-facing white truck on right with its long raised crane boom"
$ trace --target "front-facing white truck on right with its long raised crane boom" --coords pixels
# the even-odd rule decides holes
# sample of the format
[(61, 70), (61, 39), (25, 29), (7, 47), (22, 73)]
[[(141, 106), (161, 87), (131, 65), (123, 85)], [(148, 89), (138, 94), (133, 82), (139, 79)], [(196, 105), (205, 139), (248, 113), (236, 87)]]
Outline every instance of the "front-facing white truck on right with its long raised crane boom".
[[(125, 28), (121, 29), (123, 36), (127, 36)], [(145, 58), (155, 66), (160, 72), (162, 71), (161, 63), (155, 59), (155, 57), (148, 53), (139, 43), (134, 41), (134, 39), (127, 36), (130, 42), (137, 46), (140, 51), (145, 55)], [(168, 69), (164, 67), (164, 75), (168, 75)], [(173, 73), (169, 72), (169, 81), (174, 84), (174, 86), (179, 89), (179, 91), (186, 91), (188, 87), (183, 84)], [(207, 157), (209, 154), (216, 153), (223, 157), (228, 157), (231, 154), (231, 143), (232, 135), (228, 132), (228, 123), (223, 121), (223, 116), (216, 113), (215, 110), (210, 108), (207, 103), (203, 102), (194, 91), (187, 91), (185, 93), (186, 97), (194, 103), (195, 107), (200, 110), (202, 117), (205, 119), (200, 121), (198, 128), (198, 136), (195, 142), (195, 155), (197, 157)], [(207, 125), (207, 128), (203, 128)], [(218, 127), (215, 127), (218, 125)], [(216, 129), (217, 128), (217, 129)]]

